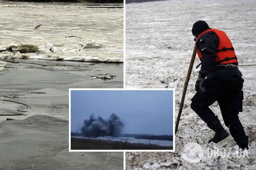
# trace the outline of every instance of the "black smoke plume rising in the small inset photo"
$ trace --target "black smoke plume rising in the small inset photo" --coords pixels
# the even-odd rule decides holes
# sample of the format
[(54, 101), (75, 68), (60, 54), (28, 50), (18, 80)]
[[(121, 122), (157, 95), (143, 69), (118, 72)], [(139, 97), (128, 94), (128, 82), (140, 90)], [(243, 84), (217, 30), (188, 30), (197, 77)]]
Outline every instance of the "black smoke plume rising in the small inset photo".
[(81, 132), (83, 136), (93, 138), (100, 136), (118, 137), (123, 127), (124, 124), (115, 113), (112, 113), (108, 120), (104, 120), (100, 116), (95, 118), (94, 115), (91, 114), (89, 119), (85, 119)]

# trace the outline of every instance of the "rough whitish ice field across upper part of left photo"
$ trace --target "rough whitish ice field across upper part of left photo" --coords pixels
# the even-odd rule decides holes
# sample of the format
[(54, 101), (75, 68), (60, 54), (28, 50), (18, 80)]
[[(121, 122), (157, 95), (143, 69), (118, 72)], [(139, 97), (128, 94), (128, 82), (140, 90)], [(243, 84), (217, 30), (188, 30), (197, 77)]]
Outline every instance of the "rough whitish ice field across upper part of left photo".
[(123, 62), (121, 6), (0, 0), (0, 59)]

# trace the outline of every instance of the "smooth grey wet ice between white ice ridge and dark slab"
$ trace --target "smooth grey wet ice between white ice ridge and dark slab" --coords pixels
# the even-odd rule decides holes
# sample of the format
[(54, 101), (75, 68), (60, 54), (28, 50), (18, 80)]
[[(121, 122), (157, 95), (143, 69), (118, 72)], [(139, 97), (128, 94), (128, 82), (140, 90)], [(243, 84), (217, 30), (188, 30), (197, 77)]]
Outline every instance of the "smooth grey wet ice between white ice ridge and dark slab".
[[(122, 88), (123, 64), (89, 63), (75, 61), (43, 61), (16, 59), (18, 63), (7, 63), (0, 77), (1, 113), (21, 113), (21, 105), (4, 99), (27, 103), (27, 116), (12, 116), (25, 119), (30, 115), (51, 115), (68, 120), (68, 88)], [(95, 76), (115, 75), (113, 79)], [(93, 76), (95, 75), (95, 76)], [(7, 116), (10, 117), (10, 116)], [(0, 122), (7, 118), (0, 116)]]

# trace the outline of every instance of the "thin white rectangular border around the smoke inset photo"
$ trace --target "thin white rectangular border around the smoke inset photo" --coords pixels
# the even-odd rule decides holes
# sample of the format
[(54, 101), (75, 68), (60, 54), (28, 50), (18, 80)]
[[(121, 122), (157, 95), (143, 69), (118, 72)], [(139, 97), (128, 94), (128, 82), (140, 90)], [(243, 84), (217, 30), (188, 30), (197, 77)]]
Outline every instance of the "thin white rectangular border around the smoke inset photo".
[[(166, 91), (173, 91), (173, 149), (172, 150), (71, 150), (71, 90), (166, 90)], [(175, 89), (85, 89), (85, 88), (70, 88), (68, 95), (68, 116), (69, 116), (69, 126), (68, 126), (68, 151), (69, 152), (124, 152), (124, 160), (125, 160), (125, 152), (175, 152)], [(125, 162), (124, 162), (125, 163)]]

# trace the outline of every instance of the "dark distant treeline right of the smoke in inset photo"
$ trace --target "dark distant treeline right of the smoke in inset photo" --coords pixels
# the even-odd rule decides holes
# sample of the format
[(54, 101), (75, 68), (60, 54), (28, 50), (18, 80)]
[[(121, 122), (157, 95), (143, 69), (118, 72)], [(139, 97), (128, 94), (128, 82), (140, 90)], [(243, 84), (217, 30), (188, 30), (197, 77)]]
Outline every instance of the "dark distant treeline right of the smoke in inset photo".
[(150, 135), (150, 134), (121, 134), (120, 137), (150, 140), (169, 140), (173, 141), (172, 135)]

